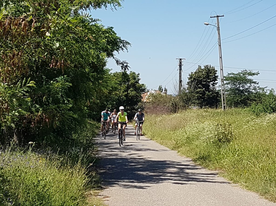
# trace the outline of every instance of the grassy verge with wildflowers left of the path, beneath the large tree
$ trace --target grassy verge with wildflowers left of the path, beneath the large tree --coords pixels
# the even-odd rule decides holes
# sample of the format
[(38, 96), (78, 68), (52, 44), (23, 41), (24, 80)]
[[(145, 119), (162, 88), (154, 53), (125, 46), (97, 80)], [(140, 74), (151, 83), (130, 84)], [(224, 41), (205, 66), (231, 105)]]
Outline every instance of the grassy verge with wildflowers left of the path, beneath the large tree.
[(103, 205), (91, 193), (98, 187), (90, 168), (98, 125), (90, 122), (65, 148), (28, 147), (0, 152), (0, 205)]

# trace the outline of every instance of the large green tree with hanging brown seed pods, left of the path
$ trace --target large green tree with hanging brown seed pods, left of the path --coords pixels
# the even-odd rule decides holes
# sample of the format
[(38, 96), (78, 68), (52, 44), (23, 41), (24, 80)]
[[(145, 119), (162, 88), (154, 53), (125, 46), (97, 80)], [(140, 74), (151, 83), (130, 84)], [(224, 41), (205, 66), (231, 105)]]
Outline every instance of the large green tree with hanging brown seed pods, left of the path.
[[(4, 0), (0, 9), (1, 138), (68, 136), (108, 94), (107, 58), (130, 45), (85, 10), (119, 0)], [(115, 61), (124, 69), (128, 64)], [(20, 138), (19, 138), (20, 139)], [(5, 141), (4, 141), (5, 142)], [(7, 141), (9, 142), (9, 140)]]

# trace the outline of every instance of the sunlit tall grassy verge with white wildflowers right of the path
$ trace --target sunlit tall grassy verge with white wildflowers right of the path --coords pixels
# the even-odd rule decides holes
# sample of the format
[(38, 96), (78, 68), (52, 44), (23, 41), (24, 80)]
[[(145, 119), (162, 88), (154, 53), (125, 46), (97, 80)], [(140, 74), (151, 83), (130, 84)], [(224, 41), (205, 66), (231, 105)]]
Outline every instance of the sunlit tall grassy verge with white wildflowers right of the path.
[(187, 110), (148, 115), (143, 129), (156, 142), (276, 202), (276, 114)]

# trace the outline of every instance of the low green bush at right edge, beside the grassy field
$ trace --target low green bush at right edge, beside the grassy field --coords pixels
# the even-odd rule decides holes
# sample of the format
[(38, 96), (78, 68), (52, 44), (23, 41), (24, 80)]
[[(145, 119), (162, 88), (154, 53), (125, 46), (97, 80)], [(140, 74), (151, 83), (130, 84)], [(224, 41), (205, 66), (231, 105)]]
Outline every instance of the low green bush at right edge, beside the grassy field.
[(276, 94), (274, 89), (271, 89), (268, 94), (264, 95), (261, 102), (253, 102), (250, 110), (256, 115), (276, 113)]

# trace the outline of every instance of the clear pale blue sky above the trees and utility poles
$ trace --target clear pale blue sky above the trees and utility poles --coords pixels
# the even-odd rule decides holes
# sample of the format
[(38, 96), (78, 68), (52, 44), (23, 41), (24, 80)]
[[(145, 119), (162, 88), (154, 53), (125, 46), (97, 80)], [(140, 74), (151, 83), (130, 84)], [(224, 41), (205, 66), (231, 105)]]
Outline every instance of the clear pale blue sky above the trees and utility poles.
[[(100, 9), (91, 11), (91, 14), (94, 18), (100, 18), (103, 25), (113, 26), (118, 36), (132, 44), (128, 53), (120, 53), (116, 56), (128, 61), (132, 71), (140, 73), (141, 82), (145, 83), (148, 89), (157, 89), (163, 82), (163, 87), (166, 86), (168, 92), (173, 93), (174, 82), (178, 81), (176, 58), (186, 58), (186, 62), (219, 66), (218, 46), (212, 47), (217, 42), (216, 28), (203, 24), (206, 21), (211, 23), (212, 20), (214, 20), (213, 24), (215, 23), (215, 18), (209, 18), (211, 12), (225, 15), (220, 23), (221, 39), (224, 39), (276, 15), (276, 5), (272, 6), (276, 4), (275, 0), (259, 1), (125, 0), (123, 8), (117, 11)], [(243, 4), (246, 5), (242, 6)], [(268, 7), (270, 8), (267, 9)], [(236, 10), (229, 12), (233, 9)], [(264, 11), (261, 12), (262, 10)], [(212, 15), (215, 12), (212, 12)], [(254, 15), (258, 12), (261, 13)], [(251, 15), (253, 16), (249, 17)], [(254, 77), (259, 85), (268, 86), (268, 88), (276, 87), (274, 64), (276, 25), (272, 26), (274, 24), (276, 24), (276, 17), (242, 34), (222, 40), (225, 75), (227, 72), (241, 71), (241, 69), (226, 67), (259, 70), (260, 74)], [(272, 27), (257, 34), (223, 43), (269, 26)], [(201, 41), (199, 41), (200, 38)], [(195, 71), (197, 64), (188, 64), (184, 61), (183, 72)], [(120, 70), (111, 59), (108, 67), (113, 71)], [(216, 68), (219, 69), (219, 67)], [(182, 74), (184, 82), (187, 81), (187, 73)]]

